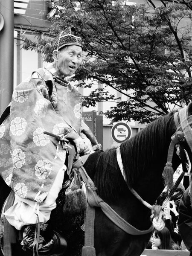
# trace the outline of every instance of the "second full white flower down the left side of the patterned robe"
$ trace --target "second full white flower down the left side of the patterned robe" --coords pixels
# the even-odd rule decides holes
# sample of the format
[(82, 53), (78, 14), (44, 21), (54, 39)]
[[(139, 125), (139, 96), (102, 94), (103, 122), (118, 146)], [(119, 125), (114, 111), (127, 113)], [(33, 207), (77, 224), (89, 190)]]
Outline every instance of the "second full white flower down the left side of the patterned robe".
[(13, 135), (20, 136), (26, 129), (27, 122), (23, 117), (15, 117), (11, 121), (10, 131)]

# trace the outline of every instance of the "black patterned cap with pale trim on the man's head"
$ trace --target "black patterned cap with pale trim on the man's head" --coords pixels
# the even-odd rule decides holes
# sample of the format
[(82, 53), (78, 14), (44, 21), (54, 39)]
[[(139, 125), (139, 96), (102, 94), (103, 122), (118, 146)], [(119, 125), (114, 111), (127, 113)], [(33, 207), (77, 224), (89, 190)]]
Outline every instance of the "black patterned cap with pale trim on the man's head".
[(52, 41), (52, 51), (60, 50), (67, 45), (78, 45), (83, 49), (81, 38), (74, 26), (62, 31), (57, 38)]

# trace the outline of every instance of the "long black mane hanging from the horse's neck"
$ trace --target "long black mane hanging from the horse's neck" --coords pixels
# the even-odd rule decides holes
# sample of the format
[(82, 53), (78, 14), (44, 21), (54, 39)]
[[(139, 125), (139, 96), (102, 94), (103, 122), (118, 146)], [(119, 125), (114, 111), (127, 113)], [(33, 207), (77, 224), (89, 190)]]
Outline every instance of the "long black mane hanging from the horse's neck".
[[(121, 144), (122, 163), (129, 186), (133, 186), (139, 175), (148, 170), (151, 160), (166, 157), (165, 145), (169, 147), (171, 135), (175, 132), (174, 128), (173, 113), (169, 113), (156, 119)], [(116, 160), (116, 148), (99, 155), (94, 182), (99, 195), (106, 198), (114, 197), (125, 189), (125, 182)]]

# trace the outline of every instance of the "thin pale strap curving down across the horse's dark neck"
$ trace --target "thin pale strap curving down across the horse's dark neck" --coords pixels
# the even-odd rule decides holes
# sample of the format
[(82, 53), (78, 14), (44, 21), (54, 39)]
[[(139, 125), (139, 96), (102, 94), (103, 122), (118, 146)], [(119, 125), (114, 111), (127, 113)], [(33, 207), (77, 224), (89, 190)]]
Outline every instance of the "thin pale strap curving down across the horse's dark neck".
[[(125, 183), (127, 184), (127, 180), (126, 180), (126, 176), (125, 176), (125, 172), (124, 172), (124, 168), (123, 168), (123, 163), (122, 163), (122, 158), (121, 158), (121, 151), (120, 151), (120, 147), (116, 149), (116, 159), (117, 159), (117, 163), (119, 165), (119, 168), (121, 170), (122, 173), (122, 177), (125, 180)], [(128, 189), (131, 191), (131, 193), (142, 203), (144, 204), (146, 207), (148, 207), (149, 209), (152, 209), (152, 205), (148, 204), (146, 201), (144, 201), (140, 195), (137, 194), (137, 192), (131, 188), (128, 184)]]

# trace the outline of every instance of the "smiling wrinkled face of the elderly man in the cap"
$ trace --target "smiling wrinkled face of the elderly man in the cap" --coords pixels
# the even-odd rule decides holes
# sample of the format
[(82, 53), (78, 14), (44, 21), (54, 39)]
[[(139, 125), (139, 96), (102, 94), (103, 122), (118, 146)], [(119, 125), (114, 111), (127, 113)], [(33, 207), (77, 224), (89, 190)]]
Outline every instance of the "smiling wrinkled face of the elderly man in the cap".
[(58, 53), (58, 67), (64, 76), (72, 76), (82, 62), (82, 48), (70, 45)]

